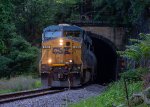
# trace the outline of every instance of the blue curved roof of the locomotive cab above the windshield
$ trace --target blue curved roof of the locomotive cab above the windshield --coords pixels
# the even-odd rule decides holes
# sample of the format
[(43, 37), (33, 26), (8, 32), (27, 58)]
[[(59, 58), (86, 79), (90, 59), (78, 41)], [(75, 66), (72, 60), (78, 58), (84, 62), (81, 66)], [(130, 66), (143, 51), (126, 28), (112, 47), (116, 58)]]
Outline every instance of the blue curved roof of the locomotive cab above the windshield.
[(75, 26), (75, 25), (68, 25), (68, 24), (59, 24), (59, 25), (51, 25), (46, 27), (43, 31), (59, 31), (59, 30), (64, 30), (64, 31), (83, 31), (80, 27)]

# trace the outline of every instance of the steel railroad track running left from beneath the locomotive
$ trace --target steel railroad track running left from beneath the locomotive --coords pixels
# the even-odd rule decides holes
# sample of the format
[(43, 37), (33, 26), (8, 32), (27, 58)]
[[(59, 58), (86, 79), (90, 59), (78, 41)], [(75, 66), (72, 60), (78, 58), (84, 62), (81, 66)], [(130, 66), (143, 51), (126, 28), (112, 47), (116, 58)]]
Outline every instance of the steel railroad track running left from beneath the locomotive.
[(16, 100), (38, 97), (38, 96), (47, 95), (47, 94), (55, 94), (55, 93), (59, 93), (63, 91), (65, 90), (64, 89), (53, 90), (51, 88), (44, 88), (44, 89), (35, 89), (35, 90), (29, 90), (29, 91), (9, 93), (9, 94), (1, 94), (0, 104), (8, 103), (8, 102), (16, 101)]

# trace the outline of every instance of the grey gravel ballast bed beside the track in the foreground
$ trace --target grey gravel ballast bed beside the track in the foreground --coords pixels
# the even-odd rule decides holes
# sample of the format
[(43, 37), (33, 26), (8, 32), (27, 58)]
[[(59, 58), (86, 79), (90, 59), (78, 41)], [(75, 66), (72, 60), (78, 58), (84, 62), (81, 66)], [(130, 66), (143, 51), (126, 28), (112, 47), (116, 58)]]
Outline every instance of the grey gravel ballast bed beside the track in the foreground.
[(70, 103), (100, 95), (104, 89), (104, 86), (93, 84), (82, 89), (0, 104), (0, 107), (67, 107)]

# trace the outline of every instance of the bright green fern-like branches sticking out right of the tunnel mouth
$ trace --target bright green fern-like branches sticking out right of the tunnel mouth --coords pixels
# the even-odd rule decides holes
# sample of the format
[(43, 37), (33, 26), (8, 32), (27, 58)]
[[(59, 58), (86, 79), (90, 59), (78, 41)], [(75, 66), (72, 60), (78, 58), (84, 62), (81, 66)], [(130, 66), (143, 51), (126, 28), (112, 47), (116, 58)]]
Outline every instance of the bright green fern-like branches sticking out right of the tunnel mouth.
[(119, 52), (122, 57), (140, 62), (150, 59), (150, 34), (140, 34), (140, 39), (130, 39), (132, 45), (127, 46), (125, 51)]

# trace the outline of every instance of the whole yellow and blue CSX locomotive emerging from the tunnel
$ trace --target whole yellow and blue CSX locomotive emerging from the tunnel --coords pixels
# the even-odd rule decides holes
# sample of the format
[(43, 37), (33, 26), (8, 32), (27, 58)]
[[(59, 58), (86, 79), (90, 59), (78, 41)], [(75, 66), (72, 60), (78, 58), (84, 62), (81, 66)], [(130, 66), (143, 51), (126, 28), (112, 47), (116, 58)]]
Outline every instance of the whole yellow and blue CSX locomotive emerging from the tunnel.
[(43, 86), (77, 87), (94, 80), (92, 40), (78, 26), (48, 26), (42, 34), (40, 74)]

